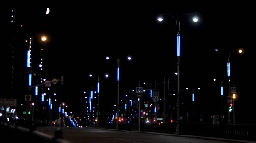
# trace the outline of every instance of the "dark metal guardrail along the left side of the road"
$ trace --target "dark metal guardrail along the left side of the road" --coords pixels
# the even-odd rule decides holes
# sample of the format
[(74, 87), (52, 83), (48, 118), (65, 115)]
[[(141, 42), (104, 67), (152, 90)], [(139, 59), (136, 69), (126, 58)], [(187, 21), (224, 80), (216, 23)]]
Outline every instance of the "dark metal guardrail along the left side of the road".
[(38, 132), (35, 129), (27, 129), (21, 126), (13, 126), (0, 122), (0, 141), (26, 142), (26, 143), (71, 143), (64, 140), (60, 128), (55, 130), (55, 136)]

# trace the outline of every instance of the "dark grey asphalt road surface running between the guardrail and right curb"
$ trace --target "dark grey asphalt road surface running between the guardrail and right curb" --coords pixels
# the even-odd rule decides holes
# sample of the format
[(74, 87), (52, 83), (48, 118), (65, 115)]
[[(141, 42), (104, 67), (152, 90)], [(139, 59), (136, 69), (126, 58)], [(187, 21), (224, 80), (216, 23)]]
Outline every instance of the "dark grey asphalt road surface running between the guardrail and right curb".
[[(91, 128), (61, 128), (63, 137), (73, 143), (227, 143), (186, 137), (149, 135)], [(54, 127), (38, 128), (38, 131), (54, 135)]]

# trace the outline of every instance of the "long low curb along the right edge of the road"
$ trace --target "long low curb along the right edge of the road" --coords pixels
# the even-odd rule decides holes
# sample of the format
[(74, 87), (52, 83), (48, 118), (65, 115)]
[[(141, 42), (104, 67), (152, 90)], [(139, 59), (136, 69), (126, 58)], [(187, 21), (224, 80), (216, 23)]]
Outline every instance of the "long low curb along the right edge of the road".
[(225, 139), (225, 138), (202, 137), (202, 136), (193, 136), (193, 135), (175, 135), (175, 134), (154, 133), (154, 132), (139, 132), (139, 131), (132, 131), (132, 133), (143, 133), (143, 134), (151, 134), (151, 135), (165, 135), (165, 136), (173, 136), (173, 137), (187, 137), (187, 138), (215, 140), (215, 141), (233, 142), (233, 143), (256, 143), (254, 141), (248, 141), (248, 140), (231, 140), (231, 139)]

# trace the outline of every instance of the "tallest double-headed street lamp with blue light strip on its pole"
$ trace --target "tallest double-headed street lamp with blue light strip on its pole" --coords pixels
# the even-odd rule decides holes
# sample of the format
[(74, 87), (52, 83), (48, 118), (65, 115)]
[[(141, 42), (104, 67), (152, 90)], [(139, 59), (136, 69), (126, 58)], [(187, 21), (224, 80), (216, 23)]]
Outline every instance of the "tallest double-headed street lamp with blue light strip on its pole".
[[(186, 16), (186, 15), (195, 15), (195, 14), (183, 14), (181, 17), (177, 16), (174, 17), (171, 14), (167, 14), (172, 16), (175, 21), (176, 21), (176, 31), (177, 31), (177, 57), (178, 57), (178, 62), (177, 62), (177, 76), (178, 76), (178, 80), (177, 80), (177, 126), (176, 126), (176, 134), (180, 134), (180, 20)], [(163, 17), (159, 16), (157, 18), (157, 20), (159, 22), (163, 21)], [(198, 16), (194, 16), (192, 19), (194, 22), (198, 22), (199, 17)]]

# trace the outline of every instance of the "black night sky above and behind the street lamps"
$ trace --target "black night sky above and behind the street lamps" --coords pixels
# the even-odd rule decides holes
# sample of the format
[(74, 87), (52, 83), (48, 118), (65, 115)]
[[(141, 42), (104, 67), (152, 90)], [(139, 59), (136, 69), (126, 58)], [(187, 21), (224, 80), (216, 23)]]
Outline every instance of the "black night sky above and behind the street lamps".
[[(220, 79), (227, 95), (227, 58), (231, 52), (231, 75), (237, 87), (239, 97), (236, 102), (236, 122), (252, 123), (255, 101), (254, 89), (254, 40), (255, 28), (253, 10), (249, 7), (195, 7), (177, 8), (163, 6), (16, 6), (16, 75), (26, 72), (26, 50), (23, 41), (34, 35), (34, 49), (44, 46), (47, 49), (47, 79), (60, 78), (65, 75), (65, 85), (58, 85), (54, 92), (61, 94), (57, 98), (69, 105), (73, 114), (83, 115), (85, 104), (83, 91), (96, 91), (97, 76), (101, 77), (100, 107), (104, 110), (113, 104), (117, 95), (116, 58), (121, 58), (120, 97), (135, 89), (138, 80), (146, 87), (163, 82), (163, 76), (170, 73), (170, 89), (177, 89), (177, 48), (175, 20), (165, 16), (163, 23), (157, 22), (161, 12), (173, 14), (192, 12), (200, 16), (198, 23), (192, 17), (181, 20), (181, 89), (201, 88), (195, 91), (197, 109), (216, 115), (220, 107)], [(163, 7), (162, 7), (163, 6)], [(50, 14), (46, 15), (46, 8)], [(7, 8), (5, 8), (7, 9)], [(10, 9), (9, 9), (10, 11)], [(8, 10), (4, 22), (9, 25)], [(20, 27), (23, 25), (23, 27)], [(7, 28), (3, 28), (7, 30)], [(6, 34), (11, 35), (11, 30)], [(49, 39), (45, 45), (40, 43), (40, 36)], [(6, 46), (6, 40), (3, 41)], [(238, 49), (244, 54), (239, 55)], [(215, 52), (218, 49), (218, 52)], [(39, 49), (38, 49), (39, 50)], [(8, 52), (8, 54), (6, 54)], [(36, 50), (35, 50), (36, 53)], [(3, 48), (1, 96), (10, 93), (11, 49)], [(125, 60), (127, 55), (133, 61)], [(106, 61), (105, 56), (110, 56)], [(34, 56), (35, 58), (36, 56)], [(36, 59), (35, 59), (36, 61)], [(93, 79), (89, 74), (93, 74)], [(108, 79), (104, 74), (108, 73)], [(8, 75), (8, 76), (5, 76)], [(217, 81), (213, 81), (217, 79)], [(23, 99), (26, 93), (26, 80), (17, 80), (16, 98)], [(59, 83), (58, 83), (59, 84)], [(20, 86), (23, 85), (23, 86)], [(25, 88), (25, 90), (24, 90)], [(163, 88), (163, 84), (157, 85)], [(20, 91), (20, 92), (19, 92)], [(176, 92), (174, 92), (176, 93)], [(135, 95), (134, 95), (135, 96)], [(163, 95), (160, 95), (163, 96)], [(135, 97), (133, 97), (135, 98)], [(175, 98), (173, 98), (175, 100)], [(192, 101), (189, 92), (183, 93), (184, 101)], [(247, 123), (247, 122), (246, 122)]]

